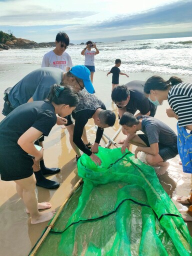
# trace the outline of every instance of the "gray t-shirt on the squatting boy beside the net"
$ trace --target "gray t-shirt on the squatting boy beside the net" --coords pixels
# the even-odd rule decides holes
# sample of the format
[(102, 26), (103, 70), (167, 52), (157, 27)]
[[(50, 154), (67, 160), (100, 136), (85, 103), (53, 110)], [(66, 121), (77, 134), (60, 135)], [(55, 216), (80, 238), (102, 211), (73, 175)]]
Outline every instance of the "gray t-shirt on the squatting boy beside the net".
[(177, 147), (177, 136), (167, 124), (147, 115), (137, 116), (138, 120), (140, 118), (142, 118), (141, 131), (147, 136), (149, 144), (160, 143)]

